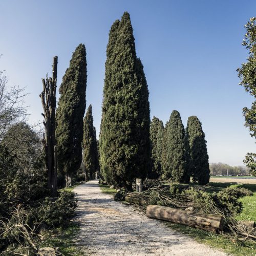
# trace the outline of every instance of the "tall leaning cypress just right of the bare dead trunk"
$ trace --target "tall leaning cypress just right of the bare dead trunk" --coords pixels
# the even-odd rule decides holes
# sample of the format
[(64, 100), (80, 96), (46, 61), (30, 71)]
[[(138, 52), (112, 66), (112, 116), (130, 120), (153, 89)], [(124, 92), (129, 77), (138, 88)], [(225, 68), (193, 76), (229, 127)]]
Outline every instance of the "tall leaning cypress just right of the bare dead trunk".
[(72, 185), (72, 174), (82, 160), (83, 115), (86, 109), (86, 47), (80, 44), (72, 55), (62, 78), (56, 111), (58, 169), (66, 175), (66, 186)]

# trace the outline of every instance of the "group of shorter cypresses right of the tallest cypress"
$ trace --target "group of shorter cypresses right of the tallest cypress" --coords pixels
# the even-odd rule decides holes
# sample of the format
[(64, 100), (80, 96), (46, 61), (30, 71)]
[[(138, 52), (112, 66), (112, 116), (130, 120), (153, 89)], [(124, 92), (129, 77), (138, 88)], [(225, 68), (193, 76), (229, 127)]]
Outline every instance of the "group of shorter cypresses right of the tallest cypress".
[(173, 178), (175, 182), (209, 182), (209, 163), (205, 134), (196, 116), (190, 116), (186, 131), (178, 111), (174, 110), (169, 121), (163, 123), (154, 117), (150, 127), (151, 172), (149, 178)]

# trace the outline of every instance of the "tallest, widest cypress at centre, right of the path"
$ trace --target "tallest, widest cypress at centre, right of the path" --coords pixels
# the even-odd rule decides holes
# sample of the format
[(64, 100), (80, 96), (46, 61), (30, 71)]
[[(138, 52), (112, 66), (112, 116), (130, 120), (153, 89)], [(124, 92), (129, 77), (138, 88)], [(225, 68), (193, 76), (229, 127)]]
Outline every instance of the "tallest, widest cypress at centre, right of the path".
[(148, 169), (150, 108), (129, 13), (113, 24), (106, 55), (100, 164), (109, 183), (131, 189), (132, 180), (145, 178)]

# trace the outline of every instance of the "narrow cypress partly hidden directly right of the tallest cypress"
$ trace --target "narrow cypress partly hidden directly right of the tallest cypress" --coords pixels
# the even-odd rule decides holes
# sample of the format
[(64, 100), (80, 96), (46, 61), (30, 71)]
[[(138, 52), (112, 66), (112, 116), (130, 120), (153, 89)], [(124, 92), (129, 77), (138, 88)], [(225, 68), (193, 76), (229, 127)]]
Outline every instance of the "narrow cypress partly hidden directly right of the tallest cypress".
[(157, 117), (153, 117), (150, 124), (150, 140), (151, 140), (151, 172), (148, 173), (147, 177), (151, 179), (156, 179), (159, 177), (159, 164), (157, 161), (157, 135), (158, 126), (160, 120)]

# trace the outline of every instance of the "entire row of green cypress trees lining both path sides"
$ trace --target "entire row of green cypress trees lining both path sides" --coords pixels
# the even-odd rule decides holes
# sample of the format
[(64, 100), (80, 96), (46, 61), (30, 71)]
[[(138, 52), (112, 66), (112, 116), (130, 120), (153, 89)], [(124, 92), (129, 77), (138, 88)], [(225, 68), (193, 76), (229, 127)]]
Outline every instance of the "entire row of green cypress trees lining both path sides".
[(56, 111), (58, 169), (66, 176), (67, 186), (82, 160), (87, 175), (100, 164), (109, 184), (129, 190), (134, 178), (162, 174), (177, 182), (189, 182), (190, 176), (200, 184), (208, 182), (208, 155), (200, 121), (189, 117), (186, 132), (178, 111), (173, 111), (165, 127), (156, 117), (150, 122), (147, 82), (136, 55), (129, 13), (124, 12), (109, 33), (99, 146), (91, 105), (83, 119), (86, 87), (86, 48), (80, 44), (62, 78)]

